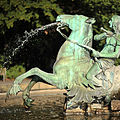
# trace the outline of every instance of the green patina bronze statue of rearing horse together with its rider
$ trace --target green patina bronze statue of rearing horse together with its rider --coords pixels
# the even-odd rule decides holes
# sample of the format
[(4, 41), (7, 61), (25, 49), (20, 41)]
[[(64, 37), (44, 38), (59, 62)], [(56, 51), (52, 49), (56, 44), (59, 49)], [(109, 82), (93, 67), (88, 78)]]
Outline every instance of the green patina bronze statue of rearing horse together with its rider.
[[(36, 75), (30, 81), (23, 92), (24, 105), (30, 107), (33, 100), (30, 98), (30, 90), (34, 84), (41, 79), (66, 89), (67, 109), (79, 103), (92, 103), (96, 99), (110, 102), (111, 94), (114, 92), (114, 59), (119, 57), (119, 16), (115, 15), (110, 21), (114, 33), (105, 31), (94, 36), (95, 40), (106, 39), (106, 45), (101, 52), (92, 48), (94, 18), (83, 15), (60, 15), (56, 21), (59, 23), (57, 31), (66, 38), (61, 46), (56, 62), (53, 66), (53, 73), (46, 73), (39, 68), (32, 68), (28, 72), (18, 76), (7, 95), (17, 94), (21, 91), (19, 84), (31, 75)], [(60, 29), (68, 26), (72, 32), (69, 37), (64, 35)], [(92, 50), (95, 60), (90, 56)], [(112, 68), (112, 69), (111, 69)]]

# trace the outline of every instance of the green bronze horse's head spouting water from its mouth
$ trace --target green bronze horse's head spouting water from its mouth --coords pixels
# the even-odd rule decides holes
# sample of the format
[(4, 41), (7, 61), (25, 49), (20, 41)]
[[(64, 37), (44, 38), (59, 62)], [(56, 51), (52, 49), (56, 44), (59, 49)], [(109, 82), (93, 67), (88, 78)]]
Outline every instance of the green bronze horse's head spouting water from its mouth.
[(67, 25), (72, 31), (77, 31), (85, 25), (95, 23), (94, 18), (89, 18), (83, 15), (59, 15), (56, 21)]

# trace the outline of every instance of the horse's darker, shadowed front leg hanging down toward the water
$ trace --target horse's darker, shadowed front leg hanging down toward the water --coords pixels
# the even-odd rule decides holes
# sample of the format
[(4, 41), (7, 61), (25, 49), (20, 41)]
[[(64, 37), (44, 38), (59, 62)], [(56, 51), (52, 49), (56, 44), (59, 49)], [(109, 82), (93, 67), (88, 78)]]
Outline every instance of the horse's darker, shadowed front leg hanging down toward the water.
[(30, 90), (38, 81), (40, 81), (40, 77), (34, 76), (30, 83), (28, 84), (28, 86), (26, 87), (26, 89), (23, 91), (22, 98), (24, 101), (24, 106), (26, 108), (29, 108), (34, 101), (30, 98)]

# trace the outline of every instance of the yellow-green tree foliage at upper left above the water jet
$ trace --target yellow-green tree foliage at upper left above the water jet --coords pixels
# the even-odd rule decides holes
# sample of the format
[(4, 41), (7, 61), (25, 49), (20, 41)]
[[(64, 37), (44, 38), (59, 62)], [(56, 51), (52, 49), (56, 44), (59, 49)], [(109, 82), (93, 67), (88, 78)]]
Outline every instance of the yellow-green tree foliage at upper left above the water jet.
[(55, 20), (56, 14), (62, 14), (62, 9), (56, 0), (1, 0), (0, 1), (0, 28), (10, 29), (17, 20), (24, 20), (41, 26), (42, 14), (50, 21)]

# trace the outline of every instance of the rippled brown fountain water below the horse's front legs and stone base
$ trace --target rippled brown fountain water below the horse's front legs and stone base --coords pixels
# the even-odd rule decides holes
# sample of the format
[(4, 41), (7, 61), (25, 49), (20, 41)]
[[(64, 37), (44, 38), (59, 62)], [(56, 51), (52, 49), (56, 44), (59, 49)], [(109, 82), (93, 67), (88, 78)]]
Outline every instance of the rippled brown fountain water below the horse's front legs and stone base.
[(63, 95), (37, 96), (34, 105), (26, 110), (21, 97), (11, 98), (7, 103), (0, 99), (0, 120), (119, 120), (110, 115), (64, 115)]

